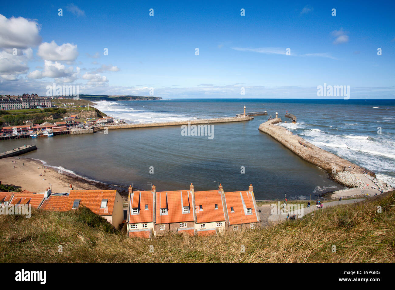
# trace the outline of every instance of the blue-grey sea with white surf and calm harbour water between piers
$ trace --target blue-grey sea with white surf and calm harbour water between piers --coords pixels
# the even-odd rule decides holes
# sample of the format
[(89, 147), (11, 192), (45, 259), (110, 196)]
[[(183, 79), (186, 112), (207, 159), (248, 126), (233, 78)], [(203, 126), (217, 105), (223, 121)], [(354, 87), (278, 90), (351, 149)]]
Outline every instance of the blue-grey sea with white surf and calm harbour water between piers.
[[(212, 136), (182, 134), (182, 127), (108, 130), (108, 134), (0, 141), (0, 151), (22, 144), (38, 150), (23, 157), (87, 180), (157, 191), (224, 191), (254, 187), (257, 200), (308, 199), (342, 189), (327, 172), (258, 130), (278, 116), (312, 144), (376, 173), (395, 186), (395, 100), (373, 99), (164, 99), (100, 101), (95, 107), (128, 123), (235, 116), (267, 110), (254, 120), (215, 123)], [(285, 118), (288, 110), (297, 123)], [(286, 123), (285, 123), (286, 121)], [(21, 156), (21, 157), (22, 157)]]

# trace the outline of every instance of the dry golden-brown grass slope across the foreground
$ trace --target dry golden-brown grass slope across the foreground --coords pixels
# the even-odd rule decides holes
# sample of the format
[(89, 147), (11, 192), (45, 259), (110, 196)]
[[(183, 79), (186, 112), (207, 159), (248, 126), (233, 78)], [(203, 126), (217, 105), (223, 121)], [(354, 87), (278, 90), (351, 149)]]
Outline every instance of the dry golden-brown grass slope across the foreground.
[(90, 211), (35, 211), (30, 219), (5, 215), (0, 262), (395, 262), (394, 197), (395, 191), (324, 208), (270, 228), (152, 240), (112, 232)]

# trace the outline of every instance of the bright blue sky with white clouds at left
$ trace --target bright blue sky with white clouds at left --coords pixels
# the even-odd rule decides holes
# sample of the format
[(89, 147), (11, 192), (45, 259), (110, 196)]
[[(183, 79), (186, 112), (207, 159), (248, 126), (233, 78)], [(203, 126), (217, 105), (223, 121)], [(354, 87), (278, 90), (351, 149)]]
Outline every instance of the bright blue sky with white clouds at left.
[(0, 94), (56, 82), (81, 94), (317, 98), (327, 83), (395, 98), (394, 2), (166, 2), (9, 2)]

